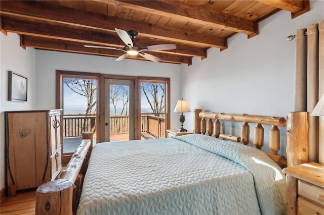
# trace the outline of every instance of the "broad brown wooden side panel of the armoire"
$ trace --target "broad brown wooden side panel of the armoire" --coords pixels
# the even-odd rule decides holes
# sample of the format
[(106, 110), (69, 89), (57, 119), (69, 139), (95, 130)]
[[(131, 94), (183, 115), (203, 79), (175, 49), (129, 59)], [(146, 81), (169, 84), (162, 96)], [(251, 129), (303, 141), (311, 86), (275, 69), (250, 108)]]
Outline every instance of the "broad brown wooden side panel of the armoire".
[(49, 174), (47, 116), (47, 112), (7, 114), (7, 185), (16, 190), (37, 187)]

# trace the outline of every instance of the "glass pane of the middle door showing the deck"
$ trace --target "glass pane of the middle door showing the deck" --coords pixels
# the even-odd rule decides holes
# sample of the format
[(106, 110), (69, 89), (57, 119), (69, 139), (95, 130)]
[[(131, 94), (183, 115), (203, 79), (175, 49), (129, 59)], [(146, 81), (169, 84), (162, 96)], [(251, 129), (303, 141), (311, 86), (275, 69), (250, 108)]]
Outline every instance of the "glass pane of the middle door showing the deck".
[(130, 140), (130, 86), (109, 84), (110, 141)]

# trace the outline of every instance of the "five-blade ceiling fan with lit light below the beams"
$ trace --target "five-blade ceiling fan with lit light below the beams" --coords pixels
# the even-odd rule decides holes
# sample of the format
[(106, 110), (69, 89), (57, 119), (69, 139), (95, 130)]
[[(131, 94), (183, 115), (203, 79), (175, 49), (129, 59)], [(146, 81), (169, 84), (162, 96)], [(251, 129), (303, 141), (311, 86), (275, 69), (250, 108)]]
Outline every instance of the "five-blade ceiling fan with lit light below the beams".
[(148, 53), (144, 53), (142, 51), (148, 50), (170, 50), (170, 49), (176, 49), (177, 46), (174, 43), (170, 44), (158, 44), (158, 45), (149, 45), (145, 47), (140, 47), (135, 44), (134, 38), (137, 36), (137, 31), (125, 31), (118, 28), (115, 28), (116, 33), (120, 37), (121, 40), (125, 42), (124, 48), (115, 48), (115, 47), (107, 47), (107, 46), (96, 46), (96, 45), (85, 45), (85, 47), (89, 48), (106, 48), (106, 49), (115, 49), (126, 52), (124, 55), (120, 56), (116, 59), (116, 61), (124, 60), (127, 56), (136, 56), (140, 55), (143, 58), (146, 58), (147, 60), (153, 61), (153, 62), (160, 62), (161, 59), (152, 56)]

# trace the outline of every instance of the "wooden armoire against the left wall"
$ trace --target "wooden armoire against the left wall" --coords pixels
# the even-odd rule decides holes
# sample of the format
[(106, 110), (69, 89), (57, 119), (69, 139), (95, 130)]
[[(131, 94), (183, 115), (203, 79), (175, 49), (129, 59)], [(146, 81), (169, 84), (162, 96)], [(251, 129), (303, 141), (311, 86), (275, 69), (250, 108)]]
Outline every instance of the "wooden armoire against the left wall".
[(54, 180), (62, 169), (62, 110), (5, 112), (8, 196)]

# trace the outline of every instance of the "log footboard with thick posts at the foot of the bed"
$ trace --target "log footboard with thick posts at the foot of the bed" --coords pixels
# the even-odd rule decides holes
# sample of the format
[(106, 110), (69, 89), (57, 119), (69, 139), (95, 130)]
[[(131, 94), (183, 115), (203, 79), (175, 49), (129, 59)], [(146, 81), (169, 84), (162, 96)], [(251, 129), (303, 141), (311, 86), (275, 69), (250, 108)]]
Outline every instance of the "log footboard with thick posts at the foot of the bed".
[(37, 188), (36, 215), (75, 214), (82, 190), (83, 176), (87, 171), (92, 150), (92, 132), (84, 132), (82, 139), (58, 179), (42, 184)]

